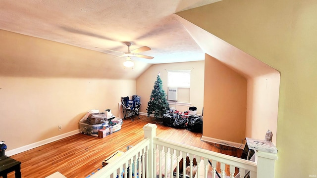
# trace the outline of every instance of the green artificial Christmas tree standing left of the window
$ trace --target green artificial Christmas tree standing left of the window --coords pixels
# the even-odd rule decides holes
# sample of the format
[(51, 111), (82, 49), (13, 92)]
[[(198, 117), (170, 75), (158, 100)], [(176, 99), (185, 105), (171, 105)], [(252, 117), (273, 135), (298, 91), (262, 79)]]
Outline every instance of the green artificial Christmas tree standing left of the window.
[(169, 110), (166, 94), (162, 89), (162, 80), (159, 75), (157, 77), (157, 81), (154, 83), (154, 89), (152, 90), (147, 110), (148, 117), (150, 117), (151, 114), (154, 114), (156, 119), (162, 118), (163, 114)]

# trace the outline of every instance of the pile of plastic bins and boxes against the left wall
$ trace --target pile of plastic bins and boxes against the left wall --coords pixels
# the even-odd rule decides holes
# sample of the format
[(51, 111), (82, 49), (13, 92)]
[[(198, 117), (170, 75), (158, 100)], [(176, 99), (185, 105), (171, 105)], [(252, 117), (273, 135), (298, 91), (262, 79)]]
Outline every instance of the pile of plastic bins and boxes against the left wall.
[(105, 119), (103, 123), (98, 123), (94, 125), (87, 124), (86, 122), (87, 118), (93, 113), (100, 113), (100, 112), (99, 110), (90, 110), (80, 120), (79, 122), (80, 133), (104, 138), (106, 137), (106, 135), (112, 134), (113, 132), (117, 132), (121, 129), (122, 119), (115, 118), (115, 116), (111, 114), (110, 109), (105, 110), (105, 113), (104, 113)]

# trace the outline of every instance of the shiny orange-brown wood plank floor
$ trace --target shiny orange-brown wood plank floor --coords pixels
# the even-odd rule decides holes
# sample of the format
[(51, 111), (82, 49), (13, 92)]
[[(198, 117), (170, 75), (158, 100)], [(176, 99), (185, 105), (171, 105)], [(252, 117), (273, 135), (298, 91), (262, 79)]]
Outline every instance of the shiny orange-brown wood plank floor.
[[(242, 154), (241, 149), (223, 150), (200, 140), (201, 133), (166, 127), (156, 123), (153, 117), (140, 116), (140, 119), (136, 118), (133, 122), (130, 119), (123, 120), (121, 130), (105, 138), (75, 134), (11, 158), (22, 163), (22, 178), (45, 178), (57, 171), (67, 178), (86, 178), (102, 168), (102, 161), (116, 150), (125, 152), (128, 145), (141, 141), (144, 137), (143, 126), (148, 123), (157, 124), (157, 136), (163, 139), (236, 157)], [(14, 178), (14, 174), (10, 173), (8, 178)]]

